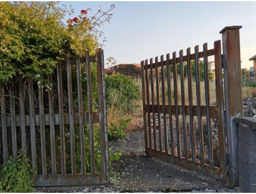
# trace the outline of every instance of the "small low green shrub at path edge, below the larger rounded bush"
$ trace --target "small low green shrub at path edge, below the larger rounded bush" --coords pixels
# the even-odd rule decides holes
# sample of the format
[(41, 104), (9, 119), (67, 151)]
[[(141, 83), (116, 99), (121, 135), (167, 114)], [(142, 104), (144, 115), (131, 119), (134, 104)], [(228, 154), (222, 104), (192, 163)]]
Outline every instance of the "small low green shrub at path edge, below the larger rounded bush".
[(119, 123), (110, 123), (107, 127), (107, 134), (109, 140), (113, 139), (123, 139), (126, 137), (124, 130), (128, 127), (129, 123), (132, 121), (131, 118), (124, 119), (121, 118), (120, 125)]

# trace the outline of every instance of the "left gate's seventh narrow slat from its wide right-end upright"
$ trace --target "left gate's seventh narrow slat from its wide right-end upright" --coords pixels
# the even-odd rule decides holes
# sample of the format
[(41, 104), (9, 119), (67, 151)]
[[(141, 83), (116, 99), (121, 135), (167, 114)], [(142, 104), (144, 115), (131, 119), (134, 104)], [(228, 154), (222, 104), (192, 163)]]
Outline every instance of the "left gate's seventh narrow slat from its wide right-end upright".
[(30, 119), (30, 134), (31, 134), (31, 153), (32, 153), (32, 168), (36, 170), (36, 128), (35, 128), (35, 110), (34, 110), (34, 89), (32, 78), (28, 79), (28, 97), (29, 97), (29, 119)]

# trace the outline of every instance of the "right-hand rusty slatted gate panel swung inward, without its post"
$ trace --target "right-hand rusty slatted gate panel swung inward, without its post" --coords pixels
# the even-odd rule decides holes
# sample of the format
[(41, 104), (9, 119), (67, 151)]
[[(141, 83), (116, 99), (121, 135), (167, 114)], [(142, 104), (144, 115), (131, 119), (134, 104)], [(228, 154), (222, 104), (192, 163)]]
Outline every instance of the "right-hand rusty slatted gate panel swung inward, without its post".
[[(209, 97), (209, 56), (215, 58), (216, 105), (211, 105)], [(205, 105), (202, 105), (201, 99), (200, 58), (203, 58), (204, 67)], [(205, 43), (202, 52), (199, 52), (199, 47), (196, 46), (194, 54), (190, 54), (190, 48), (188, 48), (185, 56), (183, 56), (183, 50), (181, 50), (179, 57), (176, 57), (176, 52), (173, 52), (171, 59), (170, 55), (167, 54), (166, 60), (164, 60), (164, 56), (161, 56), (160, 62), (158, 62), (157, 57), (155, 63), (152, 62), (152, 58), (150, 64), (148, 64), (148, 60), (142, 61), (141, 76), (146, 154), (225, 181), (226, 142), (221, 58), (220, 40), (215, 41), (214, 49), (210, 50), (207, 49), (207, 43)], [(192, 87), (194, 82), (192, 78), (192, 60), (194, 60), (196, 71), (196, 86), (194, 88)], [(184, 62), (187, 64), (187, 104), (185, 103), (184, 80), (186, 75), (184, 75)], [(180, 70), (179, 75), (178, 68)], [(171, 69), (173, 78), (171, 78)], [(178, 80), (180, 80), (180, 86), (178, 86)], [(173, 88), (171, 88), (172, 81)], [(154, 86), (154, 82), (156, 82), (156, 86)], [(180, 90), (178, 90), (179, 87)], [(193, 89), (196, 89), (196, 99), (194, 101)], [(169, 119), (167, 116), (169, 116)], [(186, 116), (189, 116), (189, 118)], [(206, 117), (205, 125), (202, 124), (203, 117)], [(197, 139), (194, 126), (195, 118), (198, 120)], [(216, 119), (216, 125), (218, 126), (218, 165), (215, 165), (213, 158), (211, 118)], [(188, 129), (187, 125), (192, 127)], [(205, 139), (207, 139), (207, 142), (204, 143)], [(205, 161), (205, 153), (207, 153), (207, 161)]]

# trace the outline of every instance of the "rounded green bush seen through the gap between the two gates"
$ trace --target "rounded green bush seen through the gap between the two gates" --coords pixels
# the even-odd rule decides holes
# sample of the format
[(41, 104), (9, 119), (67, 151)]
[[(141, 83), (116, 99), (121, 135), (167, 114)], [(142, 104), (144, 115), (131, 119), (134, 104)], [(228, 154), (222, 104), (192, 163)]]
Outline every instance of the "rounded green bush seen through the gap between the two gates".
[(108, 107), (122, 108), (125, 113), (139, 107), (136, 102), (140, 98), (140, 91), (134, 79), (126, 75), (106, 75), (105, 88)]

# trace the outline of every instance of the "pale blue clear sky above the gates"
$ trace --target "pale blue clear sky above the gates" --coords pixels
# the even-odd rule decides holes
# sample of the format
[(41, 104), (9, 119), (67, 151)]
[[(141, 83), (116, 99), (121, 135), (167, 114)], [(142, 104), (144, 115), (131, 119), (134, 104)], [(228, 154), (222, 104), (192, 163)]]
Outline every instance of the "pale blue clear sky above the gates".
[[(243, 26), (240, 29), (242, 68), (253, 66), (248, 59), (256, 55), (256, 2), (62, 2), (75, 9), (90, 7), (93, 15), (101, 6), (107, 11), (111, 4), (111, 24), (104, 23), (104, 58), (115, 57), (118, 63), (140, 63), (220, 40), (220, 30), (225, 26)], [(209, 57), (209, 60), (211, 58)]]

